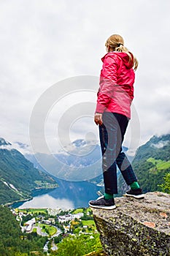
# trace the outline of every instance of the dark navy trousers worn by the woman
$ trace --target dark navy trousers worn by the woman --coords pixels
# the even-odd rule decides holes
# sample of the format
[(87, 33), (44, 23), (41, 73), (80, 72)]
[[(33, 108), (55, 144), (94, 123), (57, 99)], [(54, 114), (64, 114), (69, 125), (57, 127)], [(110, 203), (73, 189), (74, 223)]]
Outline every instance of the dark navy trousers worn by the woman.
[(118, 113), (104, 112), (102, 119), (103, 124), (99, 126), (99, 136), (104, 188), (108, 194), (117, 194), (117, 166), (126, 184), (130, 185), (137, 181), (134, 170), (122, 151), (122, 143), (128, 127), (128, 118)]

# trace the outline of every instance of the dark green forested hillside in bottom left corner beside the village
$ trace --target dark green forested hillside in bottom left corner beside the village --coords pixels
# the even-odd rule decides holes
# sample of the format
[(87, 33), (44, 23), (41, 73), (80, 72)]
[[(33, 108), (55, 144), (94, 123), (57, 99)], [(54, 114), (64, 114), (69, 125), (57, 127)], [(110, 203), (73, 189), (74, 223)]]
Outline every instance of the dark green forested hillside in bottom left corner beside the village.
[(1, 256), (44, 255), (42, 248), (47, 238), (36, 233), (23, 234), (19, 222), (7, 207), (0, 206), (0, 219)]

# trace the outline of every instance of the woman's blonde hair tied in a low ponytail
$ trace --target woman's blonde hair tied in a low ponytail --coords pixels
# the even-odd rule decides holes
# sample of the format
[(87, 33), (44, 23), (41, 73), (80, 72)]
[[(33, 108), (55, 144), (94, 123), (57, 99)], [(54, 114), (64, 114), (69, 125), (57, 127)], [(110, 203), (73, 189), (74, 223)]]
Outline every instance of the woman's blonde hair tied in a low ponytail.
[(127, 53), (128, 57), (129, 57), (129, 62), (133, 61), (134, 70), (137, 69), (137, 67), (138, 67), (137, 59), (133, 56), (132, 53), (129, 52), (128, 48), (126, 48), (124, 46), (123, 37), (121, 37), (119, 34), (112, 34), (112, 36), (110, 36), (107, 39), (107, 42), (105, 43), (105, 46), (106, 47), (109, 46), (113, 51)]

